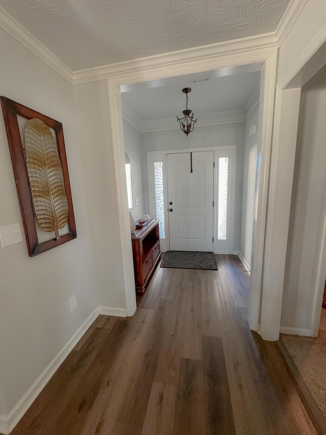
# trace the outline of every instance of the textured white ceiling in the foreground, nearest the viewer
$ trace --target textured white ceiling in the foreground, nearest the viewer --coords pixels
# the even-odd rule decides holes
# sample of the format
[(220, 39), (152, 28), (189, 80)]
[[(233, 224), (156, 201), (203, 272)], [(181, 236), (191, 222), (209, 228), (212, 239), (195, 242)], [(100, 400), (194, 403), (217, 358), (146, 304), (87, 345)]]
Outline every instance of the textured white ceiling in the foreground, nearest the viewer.
[(73, 71), (276, 30), (289, 0), (0, 0)]

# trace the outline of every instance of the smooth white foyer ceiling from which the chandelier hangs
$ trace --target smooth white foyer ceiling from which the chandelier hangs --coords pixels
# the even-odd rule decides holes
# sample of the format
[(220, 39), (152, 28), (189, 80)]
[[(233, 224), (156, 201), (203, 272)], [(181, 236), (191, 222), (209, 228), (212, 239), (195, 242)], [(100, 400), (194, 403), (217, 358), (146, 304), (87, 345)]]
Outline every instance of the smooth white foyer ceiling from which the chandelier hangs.
[[(178, 127), (176, 116), (183, 116), (182, 110), (185, 109), (182, 89), (190, 87), (192, 91), (188, 94), (188, 109), (194, 112), (198, 124), (203, 124), (207, 115), (211, 119), (212, 114), (244, 110), (252, 94), (259, 97), (260, 71), (242, 72), (249, 68), (224, 68), (222, 71), (206, 71), (122, 86), (123, 107), (127, 105), (140, 122), (171, 119), (171, 125)], [(259, 68), (258, 64), (256, 68)], [(128, 114), (124, 113), (127, 119)]]

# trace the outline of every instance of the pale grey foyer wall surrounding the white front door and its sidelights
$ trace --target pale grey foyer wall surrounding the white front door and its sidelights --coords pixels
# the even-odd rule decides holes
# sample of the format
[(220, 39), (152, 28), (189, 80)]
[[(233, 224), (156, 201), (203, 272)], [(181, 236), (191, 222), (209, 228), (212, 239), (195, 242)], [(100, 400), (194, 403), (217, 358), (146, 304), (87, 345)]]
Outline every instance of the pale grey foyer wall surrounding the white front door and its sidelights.
[[(235, 187), (235, 221), (233, 250), (240, 248), (241, 200), (243, 177), (243, 142), (244, 123), (195, 126), (188, 137), (181, 130), (164, 130), (141, 133), (142, 161), (147, 162), (147, 151), (169, 149), (199, 148), (202, 146), (237, 145), (236, 187)], [(143, 170), (144, 210), (149, 212), (147, 170)]]

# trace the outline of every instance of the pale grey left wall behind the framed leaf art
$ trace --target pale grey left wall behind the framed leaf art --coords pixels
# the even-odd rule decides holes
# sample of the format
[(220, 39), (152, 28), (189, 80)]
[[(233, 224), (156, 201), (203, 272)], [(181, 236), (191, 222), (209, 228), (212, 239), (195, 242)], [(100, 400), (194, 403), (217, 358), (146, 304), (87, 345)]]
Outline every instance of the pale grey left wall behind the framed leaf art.
[[(0, 246), (0, 414), (8, 414), (98, 303), (72, 85), (3, 30), (0, 39), (0, 93), (63, 123), (77, 229), (77, 239), (34, 258), (25, 238)], [(2, 115), (0, 186), (0, 226), (23, 228)]]

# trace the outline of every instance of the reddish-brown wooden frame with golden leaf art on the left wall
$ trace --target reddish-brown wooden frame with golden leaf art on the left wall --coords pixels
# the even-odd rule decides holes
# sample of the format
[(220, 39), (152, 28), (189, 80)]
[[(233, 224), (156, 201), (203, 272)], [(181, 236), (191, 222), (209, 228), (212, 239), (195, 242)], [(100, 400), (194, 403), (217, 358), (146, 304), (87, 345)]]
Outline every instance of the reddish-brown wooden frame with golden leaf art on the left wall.
[[(34, 257), (77, 237), (62, 123), (4, 96), (0, 99), (26, 243)], [(18, 115), (27, 120), (24, 141)], [(36, 220), (53, 233), (50, 240), (39, 243)], [(67, 233), (60, 236), (59, 229), (67, 224)]]

